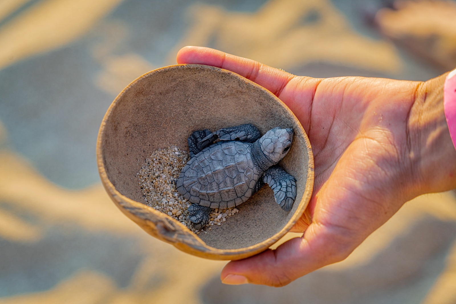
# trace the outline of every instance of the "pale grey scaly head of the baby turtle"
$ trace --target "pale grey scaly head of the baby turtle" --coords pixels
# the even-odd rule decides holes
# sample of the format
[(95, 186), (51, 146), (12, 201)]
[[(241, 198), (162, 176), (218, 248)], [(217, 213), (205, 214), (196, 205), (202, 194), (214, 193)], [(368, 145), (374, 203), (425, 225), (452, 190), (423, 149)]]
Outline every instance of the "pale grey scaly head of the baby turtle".
[(270, 129), (259, 140), (261, 151), (277, 164), (287, 155), (293, 141), (293, 129)]

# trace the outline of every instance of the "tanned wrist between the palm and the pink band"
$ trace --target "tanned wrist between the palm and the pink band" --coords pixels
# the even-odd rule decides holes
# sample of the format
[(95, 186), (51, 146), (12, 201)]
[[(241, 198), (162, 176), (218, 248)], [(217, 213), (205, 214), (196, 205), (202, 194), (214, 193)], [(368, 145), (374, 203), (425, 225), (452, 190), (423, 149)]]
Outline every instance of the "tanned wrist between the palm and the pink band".
[(445, 118), (446, 74), (421, 82), (409, 115), (410, 159), (416, 195), (456, 187), (456, 150)]

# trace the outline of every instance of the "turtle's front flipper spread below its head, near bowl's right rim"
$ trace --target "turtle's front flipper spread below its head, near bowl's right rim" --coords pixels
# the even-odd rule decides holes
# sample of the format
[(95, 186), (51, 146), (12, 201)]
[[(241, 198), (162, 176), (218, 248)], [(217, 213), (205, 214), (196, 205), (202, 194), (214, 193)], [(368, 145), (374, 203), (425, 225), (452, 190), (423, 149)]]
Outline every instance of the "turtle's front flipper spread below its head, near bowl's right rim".
[(274, 191), (277, 204), (290, 211), (296, 198), (296, 179), (278, 165), (270, 167), (263, 176), (263, 181)]

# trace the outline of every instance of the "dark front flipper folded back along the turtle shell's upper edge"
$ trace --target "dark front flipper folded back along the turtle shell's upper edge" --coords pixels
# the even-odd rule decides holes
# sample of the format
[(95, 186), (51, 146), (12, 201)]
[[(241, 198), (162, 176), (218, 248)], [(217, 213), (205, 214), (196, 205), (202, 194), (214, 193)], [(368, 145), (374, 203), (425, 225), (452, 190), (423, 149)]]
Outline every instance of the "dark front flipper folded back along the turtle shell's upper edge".
[(261, 137), (259, 129), (253, 124), (241, 124), (235, 127), (219, 129), (212, 134), (207, 135), (200, 141), (200, 149), (212, 144), (215, 140), (242, 140), (249, 143), (254, 143)]

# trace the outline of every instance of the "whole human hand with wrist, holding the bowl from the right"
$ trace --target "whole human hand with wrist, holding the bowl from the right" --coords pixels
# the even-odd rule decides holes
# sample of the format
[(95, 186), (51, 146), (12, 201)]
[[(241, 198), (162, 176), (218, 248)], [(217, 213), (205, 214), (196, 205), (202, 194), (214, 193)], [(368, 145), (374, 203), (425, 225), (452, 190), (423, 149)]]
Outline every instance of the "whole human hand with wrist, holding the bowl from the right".
[(268, 89), (295, 113), (312, 145), (314, 191), (307, 216), (291, 230), (303, 237), (229, 262), (223, 283), (284, 286), (347, 258), (405, 201), (456, 187), (444, 76), (317, 79), (194, 46), (182, 48), (177, 62), (221, 67)]

